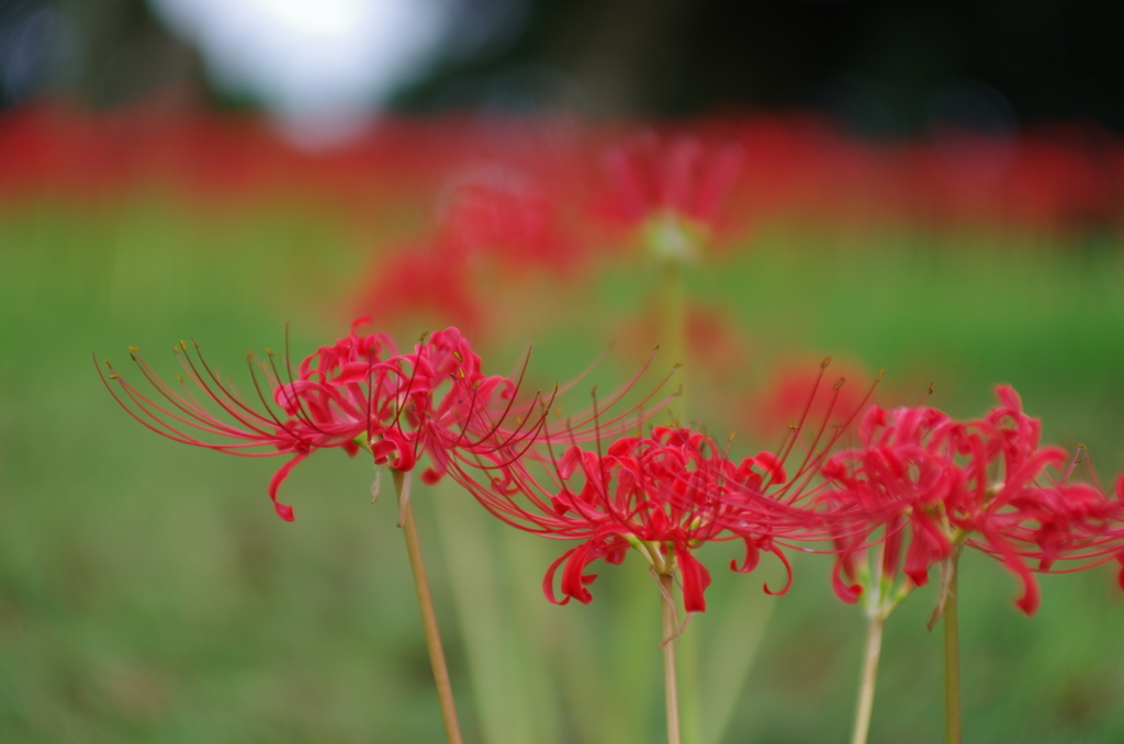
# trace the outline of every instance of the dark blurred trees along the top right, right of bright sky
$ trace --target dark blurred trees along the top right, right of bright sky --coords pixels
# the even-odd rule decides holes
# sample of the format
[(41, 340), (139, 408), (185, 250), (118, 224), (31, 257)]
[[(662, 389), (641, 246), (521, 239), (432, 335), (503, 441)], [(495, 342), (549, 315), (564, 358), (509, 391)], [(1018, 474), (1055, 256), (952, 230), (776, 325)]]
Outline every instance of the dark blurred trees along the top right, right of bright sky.
[[(950, 119), (1079, 119), (1124, 130), (1124, 4), (1113, 0), (538, 0), (501, 51), (436, 71), (399, 102), (500, 105), (516, 70), (602, 115), (826, 110), (865, 135)], [(526, 75), (525, 75), (526, 78)], [(988, 91), (950, 99), (964, 87)]]

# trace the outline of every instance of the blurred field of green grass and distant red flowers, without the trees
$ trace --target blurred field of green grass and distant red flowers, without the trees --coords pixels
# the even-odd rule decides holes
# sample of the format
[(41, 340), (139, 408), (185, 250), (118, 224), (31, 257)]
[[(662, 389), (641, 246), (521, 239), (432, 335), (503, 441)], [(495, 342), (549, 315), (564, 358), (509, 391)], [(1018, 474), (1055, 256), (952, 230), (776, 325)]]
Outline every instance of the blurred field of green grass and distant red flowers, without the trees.
[[(407, 125), (350, 154), (310, 155), (252, 117), (0, 120), (0, 740), (439, 738), (396, 507), (370, 503), (371, 468), (311, 457), (287, 483), (300, 519), (284, 524), (265, 500), (275, 463), (147, 436), (91, 361), (136, 345), (171, 373), (172, 344), (191, 337), (244, 380), (247, 346), (283, 347), (288, 323), (301, 357), (364, 302), (405, 346), (443, 327), (442, 309), (360, 298), (429, 229), (464, 169), (482, 158), (534, 172), (545, 139), (590, 153), (582, 178), (596, 181), (598, 154), (644, 128)], [(668, 128), (745, 149), (718, 247), (687, 273), (700, 342), (685, 360), (692, 405), (716, 436), (737, 432), (735, 451), (776, 445), (785, 412), (770, 420), (769, 401), (831, 354), (858, 387), (885, 368), (886, 403), (915, 403), (935, 383), (934, 402), (953, 415), (985, 410), (991, 385), (1009, 382), (1046, 441), (1087, 445), (1106, 483), (1120, 471), (1124, 145), (1089, 149), (1043, 131), (970, 152), (939, 139), (890, 152), (809, 119)], [(942, 165), (958, 157), (1000, 163), (999, 175)], [(489, 359), (515, 365), (533, 341), (544, 387), (614, 341), (596, 381), (643, 362), (654, 270), (624, 238), (602, 243), (583, 243), (573, 267), (472, 266), (462, 279), (483, 305)], [(638, 562), (605, 571), (592, 606), (554, 607), (541, 590), (551, 545), (501, 532), (452, 486), (417, 508), (472, 741), (656, 737), (659, 598)], [(706, 551), (715, 565), (736, 557)], [(964, 563), (971, 741), (1121, 741), (1124, 593), (1113, 571), (1043, 577), (1027, 619), (1010, 575), (979, 556)], [(797, 556), (779, 599), (760, 591), (778, 565), (715, 572), (711, 609), (689, 628), (709, 678), (698, 741), (844, 740), (862, 618), (832, 596), (830, 570)], [(940, 740), (934, 602), (919, 590), (887, 626), (871, 741)], [(743, 678), (737, 656), (754, 650)]]

